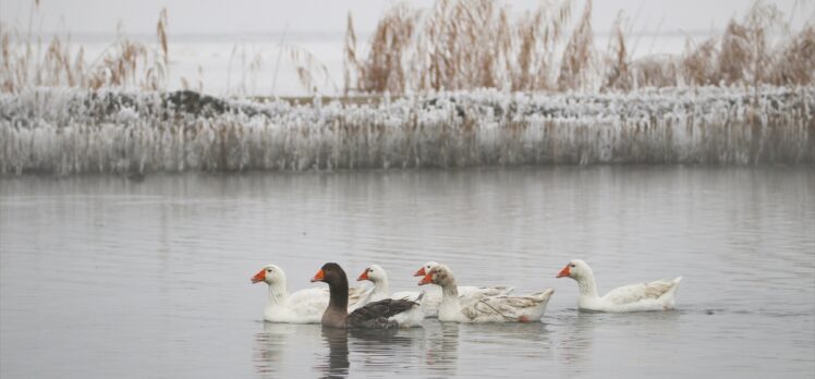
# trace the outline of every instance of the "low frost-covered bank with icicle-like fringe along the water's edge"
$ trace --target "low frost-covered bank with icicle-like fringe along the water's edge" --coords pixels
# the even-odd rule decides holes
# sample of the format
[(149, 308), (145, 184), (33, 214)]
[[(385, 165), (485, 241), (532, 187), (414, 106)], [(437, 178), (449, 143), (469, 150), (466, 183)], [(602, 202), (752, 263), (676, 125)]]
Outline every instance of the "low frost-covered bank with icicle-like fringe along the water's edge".
[(0, 171), (815, 162), (815, 87), (443, 93), (292, 106), (194, 93), (0, 95)]

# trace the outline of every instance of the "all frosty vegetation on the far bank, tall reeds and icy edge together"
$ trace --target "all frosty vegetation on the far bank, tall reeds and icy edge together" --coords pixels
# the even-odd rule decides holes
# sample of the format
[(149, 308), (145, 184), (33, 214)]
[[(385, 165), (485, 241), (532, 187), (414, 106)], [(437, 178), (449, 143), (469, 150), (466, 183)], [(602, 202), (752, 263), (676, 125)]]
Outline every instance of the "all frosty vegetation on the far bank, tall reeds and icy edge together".
[[(349, 14), (343, 90), (301, 105), (199, 95), (200, 68), (181, 77), (197, 91), (171, 91), (166, 10), (155, 46), (117, 34), (95, 60), (0, 25), (0, 174), (815, 162), (812, 21), (757, 1), (680, 54), (636, 58), (622, 14), (596, 46), (592, 4), (400, 3), (363, 44)], [(330, 82), (316, 54), (278, 50), (309, 94)]]

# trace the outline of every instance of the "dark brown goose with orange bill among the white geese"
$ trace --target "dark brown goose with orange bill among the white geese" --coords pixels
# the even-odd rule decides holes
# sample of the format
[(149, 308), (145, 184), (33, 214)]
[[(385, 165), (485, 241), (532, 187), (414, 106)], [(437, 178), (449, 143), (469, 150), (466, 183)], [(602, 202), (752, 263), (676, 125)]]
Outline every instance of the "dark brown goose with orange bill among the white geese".
[(337, 264), (325, 264), (312, 282), (326, 282), (330, 299), (320, 323), (348, 329), (397, 329), (421, 326), (424, 319), (422, 295), (414, 301), (384, 298), (348, 313), (349, 288), (345, 271)]

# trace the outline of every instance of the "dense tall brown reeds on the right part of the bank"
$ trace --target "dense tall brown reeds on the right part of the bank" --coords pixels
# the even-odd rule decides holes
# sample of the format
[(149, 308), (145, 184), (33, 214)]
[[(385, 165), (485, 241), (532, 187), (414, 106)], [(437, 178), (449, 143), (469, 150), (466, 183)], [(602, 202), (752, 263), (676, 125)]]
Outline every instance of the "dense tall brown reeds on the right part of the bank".
[[(741, 20), (677, 56), (632, 59), (622, 17), (606, 51), (594, 45), (592, 0), (542, 2), (518, 20), (494, 0), (400, 3), (379, 21), (367, 56), (349, 16), (346, 91), (627, 91), (640, 87), (813, 84), (815, 25), (792, 30), (774, 4), (754, 2)], [(574, 24), (572, 26), (572, 24)]]

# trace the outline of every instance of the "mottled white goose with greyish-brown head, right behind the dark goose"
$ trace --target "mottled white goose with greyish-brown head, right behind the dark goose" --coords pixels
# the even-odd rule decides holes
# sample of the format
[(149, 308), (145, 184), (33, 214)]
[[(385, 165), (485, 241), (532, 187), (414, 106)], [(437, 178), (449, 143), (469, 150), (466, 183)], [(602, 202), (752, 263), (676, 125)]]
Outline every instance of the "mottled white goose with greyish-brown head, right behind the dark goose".
[(441, 286), (439, 321), (452, 322), (531, 322), (539, 321), (555, 293), (549, 289), (526, 296), (484, 296), (470, 302), (459, 297), (455, 278), (445, 265), (433, 267), (418, 285)]

